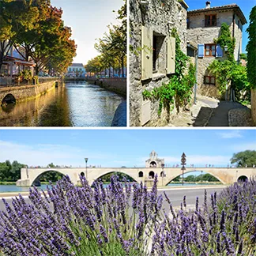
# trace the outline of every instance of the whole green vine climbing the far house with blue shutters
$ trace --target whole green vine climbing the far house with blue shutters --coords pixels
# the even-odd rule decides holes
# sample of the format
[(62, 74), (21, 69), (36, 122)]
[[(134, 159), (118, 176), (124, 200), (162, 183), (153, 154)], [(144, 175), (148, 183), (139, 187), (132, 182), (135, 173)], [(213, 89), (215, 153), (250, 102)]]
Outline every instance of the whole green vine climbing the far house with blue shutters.
[(247, 67), (235, 62), (235, 39), (232, 38), (228, 24), (221, 24), (220, 37), (217, 40), (214, 40), (214, 42), (220, 44), (222, 49), (228, 47), (228, 51), (226, 52), (228, 58), (225, 60), (214, 60), (208, 68), (216, 77), (220, 95), (224, 94), (228, 83), (235, 89), (236, 100), (241, 103), (243, 103), (243, 101), (250, 101), (250, 86), (247, 79)]

